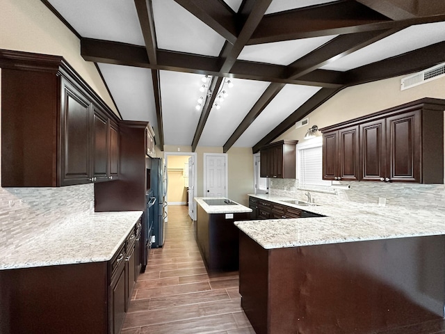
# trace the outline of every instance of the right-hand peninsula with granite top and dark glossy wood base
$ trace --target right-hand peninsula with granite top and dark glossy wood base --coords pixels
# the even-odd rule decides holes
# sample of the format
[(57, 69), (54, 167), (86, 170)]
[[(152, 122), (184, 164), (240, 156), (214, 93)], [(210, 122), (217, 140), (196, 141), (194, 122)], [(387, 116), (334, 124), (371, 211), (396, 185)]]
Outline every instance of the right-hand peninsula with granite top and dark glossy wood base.
[(257, 334), (403, 333), (444, 317), (443, 213), (353, 202), (300, 209), (325, 217), (235, 223), (241, 305)]

